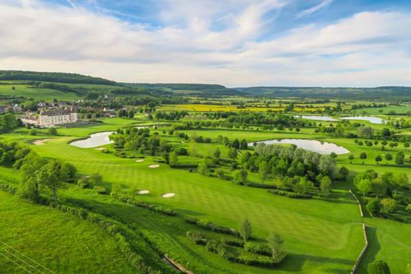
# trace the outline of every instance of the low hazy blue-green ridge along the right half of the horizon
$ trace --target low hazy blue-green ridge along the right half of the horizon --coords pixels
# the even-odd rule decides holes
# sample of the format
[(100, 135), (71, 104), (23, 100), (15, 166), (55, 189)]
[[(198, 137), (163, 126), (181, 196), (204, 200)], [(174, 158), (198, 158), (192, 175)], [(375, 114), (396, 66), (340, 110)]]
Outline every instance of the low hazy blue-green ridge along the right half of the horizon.
[(380, 86), (377, 88), (321, 88), (255, 86), (236, 88), (249, 95), (262, 97), (310, 97), (324, 99), (411, 99), (411, 87)]

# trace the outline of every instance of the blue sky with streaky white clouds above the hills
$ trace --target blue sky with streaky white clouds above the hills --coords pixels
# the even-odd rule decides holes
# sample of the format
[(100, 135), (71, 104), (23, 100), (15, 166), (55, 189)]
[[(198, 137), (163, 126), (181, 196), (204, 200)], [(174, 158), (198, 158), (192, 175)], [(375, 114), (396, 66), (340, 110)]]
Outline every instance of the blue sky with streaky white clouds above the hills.
[(410, 0), (1, 0), (0, 69), (411, 86)]

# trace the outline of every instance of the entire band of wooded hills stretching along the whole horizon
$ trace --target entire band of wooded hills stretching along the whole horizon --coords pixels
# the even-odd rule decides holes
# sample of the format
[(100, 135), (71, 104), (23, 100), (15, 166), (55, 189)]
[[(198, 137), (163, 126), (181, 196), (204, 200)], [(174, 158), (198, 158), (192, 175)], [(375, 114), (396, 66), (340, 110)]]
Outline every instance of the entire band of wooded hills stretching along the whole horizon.
[[(91, 77), (77, 73), (50, 73), (36, 71), (0, 71), (1, 80), (19, 80), (31, 82), (37, 88), (51, 88), (63, 92), (73, 92), (79, 96), (90, 90), (99, 94), (111, 92), (121, 96), (166, 96), (182, 97), (196, 95), (200, 97), (220, 97), (228, 95), (248, 95), (255, 97), (277, 98), (316, 98), (316, 99), (384, 99), (411, 100), (411, 87), (380, 86), (376, 88), (323, 88), (323, 87), (286, 87), (253, 86), (246, 88), (227, 88), (220, 84), (149, 84), (119, 83), (100, 77)], [(38, 83), (43, 82), (43, 83)], [(51, 83), (44, 83), (51, 82)], [(1, 84), (1, 83), (0, 83)], [(67, 85), (80, 84), (80, 85)], [(99, 87), (81, 86), (81, 84), (105, 85)]]

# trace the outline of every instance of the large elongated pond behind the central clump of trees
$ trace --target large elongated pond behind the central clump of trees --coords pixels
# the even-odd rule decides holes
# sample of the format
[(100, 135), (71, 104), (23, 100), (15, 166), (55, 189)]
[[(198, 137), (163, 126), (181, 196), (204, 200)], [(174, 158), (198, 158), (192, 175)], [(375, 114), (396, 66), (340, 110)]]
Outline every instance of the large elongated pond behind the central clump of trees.
[[(296, 145), (297, 147), (301, 149), (306, 149), (309, 151), (314, 151), (316, 153), (320, 154), (331, 154), (332, 152), (336, 154), (344, 154), (344, 153), (349, 153), (347, 149), (344, 147), (340, 147), (336, 144), (333, 144), (332, 142), (320, 142), (317, 140), (308, 140), (308, 139), (281, 139), (281, 140), (266, 140), (266, 141), (261, 141), (264, 142), (266, 145), (273, 145), (273, 144), (292, 144)], [(259, 143), (259, 142), (257, 142)], [(249, 143), (250, 146), (253, 145), (253, 143)]]

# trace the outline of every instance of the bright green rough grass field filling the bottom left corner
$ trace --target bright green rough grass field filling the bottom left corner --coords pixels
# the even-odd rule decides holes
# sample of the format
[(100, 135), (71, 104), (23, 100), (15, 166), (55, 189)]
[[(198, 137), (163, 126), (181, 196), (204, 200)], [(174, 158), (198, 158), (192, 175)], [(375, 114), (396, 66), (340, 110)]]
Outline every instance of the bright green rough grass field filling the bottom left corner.
[[(12, 257), (8, 245), (55, 273), (135, 273), (116, 242), (95, 224), (5, 192), (0, 208), (0, 255)], [(0, 273), (26, 273), (4, 256)]]

